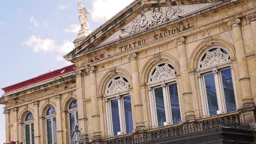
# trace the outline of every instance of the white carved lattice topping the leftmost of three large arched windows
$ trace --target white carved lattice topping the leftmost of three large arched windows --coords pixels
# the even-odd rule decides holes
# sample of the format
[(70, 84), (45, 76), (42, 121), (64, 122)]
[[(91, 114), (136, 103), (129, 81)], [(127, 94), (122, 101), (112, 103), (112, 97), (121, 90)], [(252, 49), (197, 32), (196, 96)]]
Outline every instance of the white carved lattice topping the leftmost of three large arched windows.
[(110, 86), (107, 87), (107, 94), (129, 90), (129, 83), (123, 77), (113, 79)]

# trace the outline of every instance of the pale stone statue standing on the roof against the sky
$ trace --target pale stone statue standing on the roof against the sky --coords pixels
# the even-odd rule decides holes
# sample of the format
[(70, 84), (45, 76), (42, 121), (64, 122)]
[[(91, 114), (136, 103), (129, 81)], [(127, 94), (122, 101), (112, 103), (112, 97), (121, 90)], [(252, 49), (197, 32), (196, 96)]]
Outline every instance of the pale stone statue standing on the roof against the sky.
[(89, 29), (88, 24), (89, 11), (86, 9), (84, 4), (79, 0), (78, 2), (78, 18), (81, 24), (81, 29)]

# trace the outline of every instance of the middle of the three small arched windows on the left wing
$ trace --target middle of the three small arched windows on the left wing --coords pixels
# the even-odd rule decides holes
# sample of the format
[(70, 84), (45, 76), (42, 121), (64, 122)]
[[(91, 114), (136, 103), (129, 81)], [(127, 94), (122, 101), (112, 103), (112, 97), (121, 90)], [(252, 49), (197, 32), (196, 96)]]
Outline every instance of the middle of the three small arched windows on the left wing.
[(47, 144), (57, 144), (57, 127), (55, 108), (51, 106), (46, 111)]

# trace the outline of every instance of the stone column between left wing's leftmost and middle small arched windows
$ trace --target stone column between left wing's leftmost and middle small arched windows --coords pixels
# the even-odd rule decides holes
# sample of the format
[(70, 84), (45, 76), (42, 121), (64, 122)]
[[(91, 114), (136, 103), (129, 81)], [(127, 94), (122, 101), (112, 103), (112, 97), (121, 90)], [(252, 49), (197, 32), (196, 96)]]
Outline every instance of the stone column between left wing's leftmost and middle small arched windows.
[(33, 103), (34, 106), (34, 144), (40, 143), (40, 123), (39, 123), (39, 102), (36, 101)]

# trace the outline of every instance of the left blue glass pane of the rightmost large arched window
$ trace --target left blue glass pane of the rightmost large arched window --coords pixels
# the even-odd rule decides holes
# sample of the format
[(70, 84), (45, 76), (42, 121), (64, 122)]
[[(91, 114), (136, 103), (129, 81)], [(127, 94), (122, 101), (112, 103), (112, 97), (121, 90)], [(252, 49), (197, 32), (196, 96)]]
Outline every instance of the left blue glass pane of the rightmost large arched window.
[(219, 108), (213, 74), (205, 75), (204, 81), (207, 94), (209, 114), (210, 116), (217, 115), (217, 111), (219, 110)]

